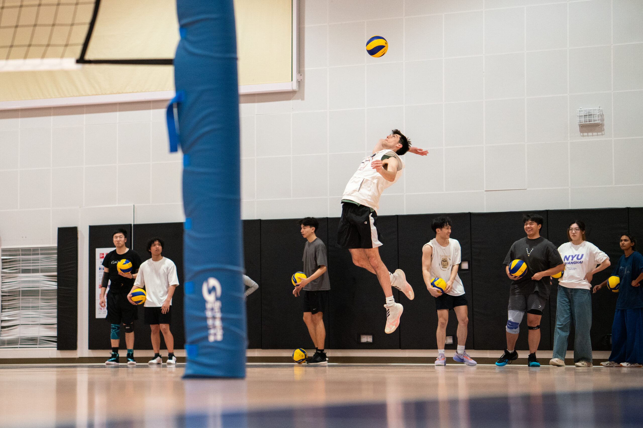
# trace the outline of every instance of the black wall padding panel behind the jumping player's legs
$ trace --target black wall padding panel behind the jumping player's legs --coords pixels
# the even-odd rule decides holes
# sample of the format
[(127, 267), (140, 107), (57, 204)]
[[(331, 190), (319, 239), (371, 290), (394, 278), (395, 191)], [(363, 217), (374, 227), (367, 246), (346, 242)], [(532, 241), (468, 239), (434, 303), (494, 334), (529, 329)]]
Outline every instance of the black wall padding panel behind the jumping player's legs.
[[(355, 266), (349, 250), (336, 247), (339, 221), (339, 218), (328, 219), (331, 348), (399, 349), (400, 329), (391, 334), (384, 332), (386, 300), (376, 275)], [(377, 228), (383, 243), (379, 255), (392, 272), (397, 269), (397, 216), (378, 216)], [(397, 289), (393, 289), (393, 295), (399, 302)], [(360, 343), (361, 334), (372, 335), (373, 342)]]

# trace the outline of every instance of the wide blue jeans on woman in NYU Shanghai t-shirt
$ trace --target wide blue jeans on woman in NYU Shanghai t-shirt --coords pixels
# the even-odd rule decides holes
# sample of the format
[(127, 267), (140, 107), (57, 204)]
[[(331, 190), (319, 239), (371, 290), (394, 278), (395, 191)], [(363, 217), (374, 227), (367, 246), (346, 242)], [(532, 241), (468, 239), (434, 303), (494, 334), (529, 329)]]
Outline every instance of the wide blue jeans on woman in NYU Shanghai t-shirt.
[(584, 288), (558, 286), (556, 300), (556, 330), (554, 330), (554, 358), (565, 359), (567, 337), (574, 321), (574, 363), (592, 363), (592, 291)]

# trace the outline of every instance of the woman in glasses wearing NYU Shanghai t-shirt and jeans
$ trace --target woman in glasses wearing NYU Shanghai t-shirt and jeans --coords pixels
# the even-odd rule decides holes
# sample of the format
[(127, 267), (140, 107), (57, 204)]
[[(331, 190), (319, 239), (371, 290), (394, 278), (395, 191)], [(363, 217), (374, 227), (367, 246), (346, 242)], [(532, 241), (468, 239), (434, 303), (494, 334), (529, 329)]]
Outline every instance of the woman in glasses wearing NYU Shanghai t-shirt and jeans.
[[(610, 257), (585, 241), (585, 223), (575, 220), (567, 227), (568, 243), (558, 247), (565, 270), (558, 280), (556, 330), (552, 366), (565, 366), (567, 338), (574, 321), (574, 365), (592, 366), (592, 277), (610, 266)], [(597, 266), (598, 265), (598, 266)]]

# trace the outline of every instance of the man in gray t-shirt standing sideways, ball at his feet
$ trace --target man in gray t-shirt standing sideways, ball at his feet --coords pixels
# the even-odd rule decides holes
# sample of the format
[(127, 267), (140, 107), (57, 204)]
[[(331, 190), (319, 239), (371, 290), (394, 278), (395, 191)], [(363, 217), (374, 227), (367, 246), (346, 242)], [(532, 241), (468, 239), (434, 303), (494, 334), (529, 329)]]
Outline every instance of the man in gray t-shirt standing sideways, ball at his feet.
[(303, 322), (308, 327), (315, 353), (306, 359), (308, 364), (326, 364), (328, 359), (324, 352), (326, 329), (323, 325), (323, 312), (328, 304), (328, 294), (331, 282), (328, 279), (328, 257), (326, 246), (315, 235), (319, 228), (316, 218), (307, 217), (299, 221), (302, 227), (302, 236), (307, 243), (303, 248), (303, 273), (306, 278), (296, 284), (294, 296), (303, 297)]

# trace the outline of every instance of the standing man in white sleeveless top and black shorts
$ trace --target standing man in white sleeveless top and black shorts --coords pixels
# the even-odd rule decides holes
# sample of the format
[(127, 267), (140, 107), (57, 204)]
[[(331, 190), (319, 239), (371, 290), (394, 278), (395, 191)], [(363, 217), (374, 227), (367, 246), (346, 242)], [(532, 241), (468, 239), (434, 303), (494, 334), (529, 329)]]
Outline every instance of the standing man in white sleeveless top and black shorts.
[[(458, 350), (453, 359), (458, 363), (475, 366), (476, 362), (464, 350), (467, 341), (467, 298), (464, 296), (464, 286), (458, 276), (461, 262), (460, 243), (451, 238), (451, 219), (437, 217), (431, 222), (431, 229), (435, 238), (422, 247), (422, 277), (431, 296), (435, 297), (435, 309), (438, 312), (438, 328), (435, 333), (438, 344), (438, 357), (436, 366), (445, 366), (444, 342), (446, 341), (446, 325), (449, 321), (449, 309), (453, 309), (458, 318)], [(431, 286), (433, 278), (442, 278), (446, 281), (444, 293)]]

